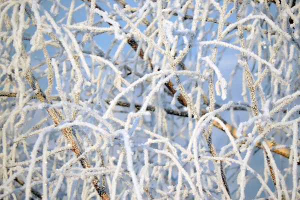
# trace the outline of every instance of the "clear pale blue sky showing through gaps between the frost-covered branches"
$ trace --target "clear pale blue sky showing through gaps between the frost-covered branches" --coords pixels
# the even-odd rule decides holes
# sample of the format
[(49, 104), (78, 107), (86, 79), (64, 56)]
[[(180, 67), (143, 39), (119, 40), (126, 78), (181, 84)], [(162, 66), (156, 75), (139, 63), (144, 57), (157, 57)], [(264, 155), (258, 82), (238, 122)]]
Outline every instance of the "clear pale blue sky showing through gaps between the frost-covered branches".
[[(112, 1), (114, 2), (114, 1)], [(70, 1), (68, 0), (62, 0), (61, 3), (66, 6), (66, 7), (69, 7), (70, 5)], [(81, 4), (82, 1), (81, 0), (76, 0), (76, 3), (75, 3), (75, 7), (79, 4)], [(131, 5), (131, 6), (136, 6), (138, 2), (134, 2), (133, 0), (131, 1), (128, 1), (128, 4)], [(100, 5), (104, 10), (109, 10), (108, 7), (105, 5), (105, 3), (100, 3), (100, 2), (97, 2), (98, 5)], [(220, 3), (221, 4), (221, 3)], [(49, 12), (50, 10), (50, 6), (51, 6), (51, 3), (49, 1), (43, 1), (41, 3), (41, 6), (47, 10)], [(228, 6), (228, 9), (230, 9), (232, 7), (232, 3), (230, 6)], [(62, 10), (62, 9), (61, 9)], [(271, 7), (271, 10), (275, 10), (274, 6)], [(64, 12), (61, 11), (59, 12), (59, 14), (56, 16), (56, 21), (59, 20), (61, 17), (64, 16)], [(218, 18), (217, 16), (217, 13), (213, 13), (210, 15), (211, 17), (216, 17)], [(76, 22), (79, 22), (79, 21), (84, 21), (86, 20), (86, 12), (85, 12), (85, 8), (82, 8), (78, 11), (76, 11), (74, 14), (73, 14), (73, 19), (74, 21)], [(94, 21), (97, 21), (99, 20), (100, 17), (95, 15), (95, 19)], [(175, 17), (173, 17), (173, 19), (175, 19)], [(227, 20), (227, 22), (234, 22), (236, 21), (236, 18), (235, 18), (235, 14), (233, 13)], [(103, 23), (104, 26), (108, 26), (107, 23)], [(120, 25), (121, 26), (124, 26), (125, 23), (122, 21), (120, 22)], [(205, 26), (205, 29), (209, 28), (210, 24), (206, 24)], [(212, 28), (212, 31), (215, 31), (216, 30), (216, 27), (217, 27), (217, 24), (214, 24), (213, 28)], [(141, 26), (141, 30), (143, 30), (145, 27)], [(32, 32), (35, 31), (35, 28), (32, 27), (30, 29), (28, 29), (26, 31), (26, 33), (28, 34), (32, 34)], [(77, 41), (79, 41), (81, 39), (81, 35), (80, 36), (77, 36)], [(207, 36), (209, 38), (209, 35)], [(49, 38), (48, 36), (45, 35), (45, 38)], [(113, 35), (108, 35), (106, 33), (102, 33), (102, 34), (99, 34), (97, 36), (94, 37), (94, 40), (96, 41), (96, 43), (101, 47), (101, 49), (106, 52), (107, 49), (109, 48), (110, 44), (111, 44), (111, 41), (113, 40), (114, 36)], [(30, 44), (29, 44), (29, 41), (26, 41), (26, 44), (27, 44), (27, 49), (30, 49)], [(237, 44), (239, 45), (239, 44)], [(195, 52), (197, 51), (197, 46), (194, 46), (192, 48), (192, 50), (190, 51), (191, 53), (191, 57), (194, 57), (195, 56)], [(211, 48), (209, 49), (209, 51), (211, 52), (212, 50), (212, 47), (211, 46), (207, 46), (207, 48)], [(47, 49), (48, 49), (48, 52), (51, 55), (53, 55), (55, 53), (54, 51), (54, 48), (53, 47), (49, 47), (47, 46)], [(125, 48), (124, 48), (124, 51), (128, 51), (130, 49), (130, 46), (126, 44)], [(221, 49), (221, 47), (220, 47)], [(88, 49), (88, 45), (86, 45), (85, 47), (85, 50), (90, 50)], [(112, 56), (114, 54), (116, 50), (116, 46), (114, 46), (110, 52), (110, 56)], [(209, 54), (209, 53), (208, 53)], [(219, 63), (217, 64), (219, 70), (221, 71), (221, 73), (223, 74), (224, 78), (228, 81), (229, 78), (230, 78), (230, 73), (231, 71), (234, 69), (236, 63), (237, 63), (237, 59), (238, 57), (236, 56), (236, 54), (239, 54), (238, 51), (236, 50), (232, 50), (232, 49), (226, 49), (224, 51), (224, 53), (222, 54), (222, 57), (219, 61)], [(37, 52), (35, 52), (33, 54), (32, 57), (36, 57), (36, 58), (41, 58), (41, 59), (44, 59), (43, 58), (43, 55), (42, 55), (42, 51), (39, 50)], [(187, 57), (188, 58), (188, 57)], [(188, 66), (188, 59), (186, 59), (187, 61), (185, 61), (185, 64)], [(251, 63), (252, 61), (249, 61), (249, 65), (251, 67)], [(34, 61), (32, 59), (32, 62), (31, 62), (31, 65), (34, 66), (36, 65), (37, 63), (39, 63), (39, 61)], [(89, 64), (90, 63), (90, 59), (87, 59), (87, 63)], [(46, 66), (43, 66), (41, 67), (41, 69), (45, 69)], [(184, 77), (180, 77), (182, 81), (185, 80)], [(43, 89), (45, 89), (47, 87), (47, 80), (46, 80), (46, 77), (44, 78), (41, 78), (39, 80), (39, 83), (42, 85)], [(242, 99), (242, 96), (240, 95), (241, 92), (242, 92), (242, 88), (241, 88), (241, 84), (242, 84), (242, 76), (241, 76), (241, 70), (238, 71), (238, 74), (234, 77), (234, 83), (231, 85), (231, 94), (232, 94), (232, 99), (234, 100), (234, 102), (237, 102), (239, 100), (243, 100)], [(204, 84), (205, 85), (205, 84)], [(55, 83), (54, 83), (54, 88), (55, 88)], [(204, 86), (204, 88), (207, 89), (207, 84)], [(55, 91), (55, 89), (53, 89), (53, 94), (56, 94), (57, 92)], [(228, 102), (228, 98), (226, 100), (222, 100), (220, 96), (217, 96), (216, 97), (216, 101), (217, 103), (225, 103), (225, 102)], [(238, 114), (236, 115), (236, 121), (245, 121), (248, 119), (248, 114), (247, 112), (245, 111), (236, 111), (238, 112)], [(222, 113), (222, 117), (224, 119), (226, 119), (227, 121), (230, 121), (230, 115), (229, 115), (229, 112), (228, 111), (225, 111), (224, 113)], [(224, 134), (224, 132), (214, 128), (213, 129), (213, 136), (212, 136), (212, 140), (213, 140), (213, 143), (214, 145), (216, 146), (217, 149), (219, 149), (220, 147), (222, 147), (223, 145), (225, 145), (228, 141), (227, 139), (227, 136)], [(284, 164), (287, 163), (287, 159), (286, 158), (282, 158), (278, 155), (275, 155), (275, 160), (276, 160), (276, 163), (279, 163), (280, 161), (282, 162), (285, 162), (285, 163), (282, 163), (282, 166)], [(251, 160), (250, 160), (250, 166), (253, 167), (259, 174), (263, 174), (263, 156), (262, 156), (262, 151), (259, 150), (254, 156), (251, 157)], [(279, 167), (280, 169), (280, 167)], [(229, 174), (231, 173), (235, 173), (236, 171), (232, 170), (232, 171), (229, 171), (228, 172), (228, 176)], [(286, 180), (286, 182), (288, 183), (289, 181)], [(236, 186), (236, 183), (229, 183), (230, 185), (230, 188), (231, 187), (235, 187)], [(271, 182), (271, 179), (269, 180), (268, 182), (268, 186), (271, 188), (271, 189), (274, 189), (273, 187), (273, 183)], [(290, 185), (289, 185), (290, 186)], [(254, 197), (254, 195), (256, 194), (257, 192), (257, 189), (260, 187), (260, 184), (259, 184), (259, 181), (257, 179), (252, 179), (249, 181), (249, 183), (247, 184), (247, 187), (246, 187), (246, 197), (247, 199), (251, 199)]]

